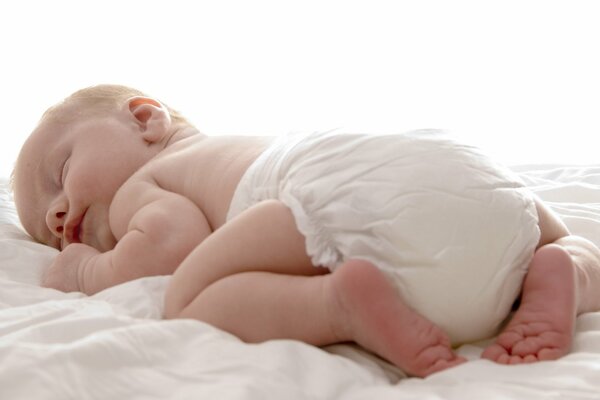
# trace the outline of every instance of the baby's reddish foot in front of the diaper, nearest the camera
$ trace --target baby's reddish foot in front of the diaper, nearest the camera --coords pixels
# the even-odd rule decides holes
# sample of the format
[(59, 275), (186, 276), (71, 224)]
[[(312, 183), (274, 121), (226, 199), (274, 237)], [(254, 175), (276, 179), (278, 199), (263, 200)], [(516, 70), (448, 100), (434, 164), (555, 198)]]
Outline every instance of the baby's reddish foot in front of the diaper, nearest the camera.
[(413, 376), (425, 377), (466, 361), (433, 323), (404, 304), (383, 273), (366, 261), (351, 260), (332, 276), (336, 331), (374, 351)]

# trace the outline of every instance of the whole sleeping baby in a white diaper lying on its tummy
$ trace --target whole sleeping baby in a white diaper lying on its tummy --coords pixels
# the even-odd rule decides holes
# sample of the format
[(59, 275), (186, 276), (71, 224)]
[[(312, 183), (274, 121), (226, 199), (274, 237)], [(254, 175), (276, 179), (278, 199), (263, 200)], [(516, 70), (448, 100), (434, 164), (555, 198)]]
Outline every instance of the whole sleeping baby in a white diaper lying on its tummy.
[(101, 85), (44, 114), (13, 179), (25, 229), (62, 249), (45, 286), (173, 274), (167, 318), (247, 342), (353, 341), (424, 377), (463, 363), (452, 346), (496, 334), (519, 294), (483, 357), (561, 357), (600, 309), (598, 249), (434, 133), (210, 137)]

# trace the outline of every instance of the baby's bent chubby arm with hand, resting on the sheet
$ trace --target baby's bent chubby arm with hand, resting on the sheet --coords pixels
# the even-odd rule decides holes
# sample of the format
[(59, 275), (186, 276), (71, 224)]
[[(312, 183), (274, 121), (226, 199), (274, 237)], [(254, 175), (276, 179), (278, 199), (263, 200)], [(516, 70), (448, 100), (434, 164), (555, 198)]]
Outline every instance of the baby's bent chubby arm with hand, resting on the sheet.
[(168, 275), (210, 233), (206, 217), (191, 200), (159, 190), (133, 214), (113, 250), (67, 246), (47, 272), (44, 286), (93, 294), (132, 279)]

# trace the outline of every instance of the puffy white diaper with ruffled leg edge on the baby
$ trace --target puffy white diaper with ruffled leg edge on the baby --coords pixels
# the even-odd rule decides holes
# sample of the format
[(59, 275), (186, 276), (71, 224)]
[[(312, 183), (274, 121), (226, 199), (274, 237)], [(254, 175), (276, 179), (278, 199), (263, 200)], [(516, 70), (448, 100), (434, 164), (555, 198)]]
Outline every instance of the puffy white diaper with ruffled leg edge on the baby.
[(496, 333), (540, 236), (519, 179), (438, 131), (283, 136), (227, 218), (266, 199), (290, 207), (314, 265), (371, 261), (453, 344)]

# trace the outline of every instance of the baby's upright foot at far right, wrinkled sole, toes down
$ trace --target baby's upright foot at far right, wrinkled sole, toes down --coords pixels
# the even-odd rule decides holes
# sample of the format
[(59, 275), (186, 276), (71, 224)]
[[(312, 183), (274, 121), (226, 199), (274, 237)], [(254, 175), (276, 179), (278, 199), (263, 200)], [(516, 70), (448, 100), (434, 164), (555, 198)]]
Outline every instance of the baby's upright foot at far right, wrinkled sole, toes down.
[(538, 249), (522, 297), (514, 317), (482, 357), (520, 364), (567, 354), (575, 327), (575, 270), (564, 248), (550, 244)]

